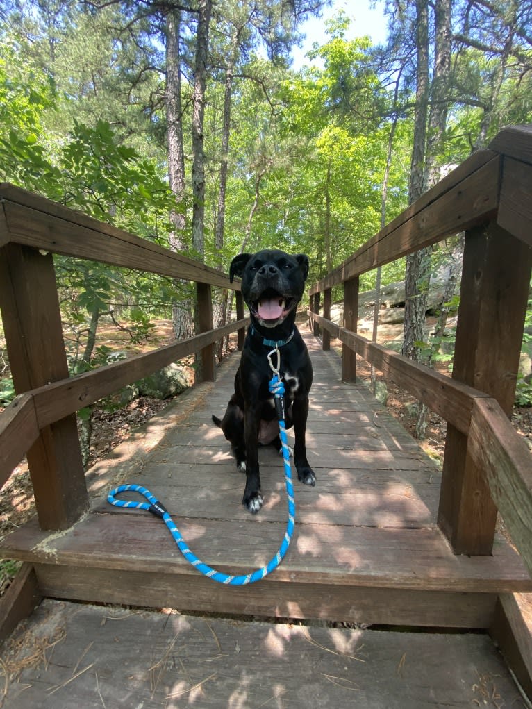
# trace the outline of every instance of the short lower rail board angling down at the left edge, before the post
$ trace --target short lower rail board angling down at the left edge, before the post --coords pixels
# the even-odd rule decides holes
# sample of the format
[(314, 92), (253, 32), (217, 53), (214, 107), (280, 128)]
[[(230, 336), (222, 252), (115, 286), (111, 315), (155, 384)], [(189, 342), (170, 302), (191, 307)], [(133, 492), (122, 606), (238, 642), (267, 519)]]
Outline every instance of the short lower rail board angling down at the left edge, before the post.
[(33, 397), (21, 394), (0, 413), (0, 488), (38, 437)]

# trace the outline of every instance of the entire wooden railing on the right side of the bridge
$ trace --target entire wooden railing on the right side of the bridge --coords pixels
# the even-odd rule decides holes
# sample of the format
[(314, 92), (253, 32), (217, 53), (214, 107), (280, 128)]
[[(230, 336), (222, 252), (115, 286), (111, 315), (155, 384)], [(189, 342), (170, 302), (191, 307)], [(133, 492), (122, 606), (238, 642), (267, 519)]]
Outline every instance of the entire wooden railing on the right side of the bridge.
[[(377, 266), (465, 231), (453, 378), (356, 334), (358, 286)], [(497, 509), (532, 574), (532, 456), (509, 422), (532, 267), (532, 125), (502, 130), (331, 274), (312, 286), (309, 317), (448, 421), (438, 524), (458, 554), (490, 554)], [(343, 327), (331, 289), (344, 287)], [(323, 293), (322, 315), (321, 294)]]

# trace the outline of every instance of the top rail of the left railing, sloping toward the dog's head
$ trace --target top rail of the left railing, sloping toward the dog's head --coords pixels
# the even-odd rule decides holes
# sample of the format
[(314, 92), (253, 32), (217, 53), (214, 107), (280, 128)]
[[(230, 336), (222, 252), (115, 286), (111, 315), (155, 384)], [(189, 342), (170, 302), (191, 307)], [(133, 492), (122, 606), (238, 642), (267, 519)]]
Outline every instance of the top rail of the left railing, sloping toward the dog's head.
[(9, 240), (18, 244), (171, 278), (238, 289), (225, 274), (77, 211), (0, 184)]

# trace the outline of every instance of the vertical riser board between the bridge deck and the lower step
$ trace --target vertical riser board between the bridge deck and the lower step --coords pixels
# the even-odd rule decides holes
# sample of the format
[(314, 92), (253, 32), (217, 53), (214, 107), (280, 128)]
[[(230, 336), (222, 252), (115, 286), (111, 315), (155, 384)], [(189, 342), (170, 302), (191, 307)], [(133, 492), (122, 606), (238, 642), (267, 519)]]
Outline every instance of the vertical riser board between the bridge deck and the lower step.
[(167, 570), (115, 571), (85, 566), (35, 567), (40, 588), (52, 598), (124, 603), (152, 608), (200, 610), (265, 618), (316, 618), (346, 623), (428, 627), (489, 627), (497, 596), (357, 586), (314, 586), (265, 580), (228, 587), (204, 576), (175, 576)]

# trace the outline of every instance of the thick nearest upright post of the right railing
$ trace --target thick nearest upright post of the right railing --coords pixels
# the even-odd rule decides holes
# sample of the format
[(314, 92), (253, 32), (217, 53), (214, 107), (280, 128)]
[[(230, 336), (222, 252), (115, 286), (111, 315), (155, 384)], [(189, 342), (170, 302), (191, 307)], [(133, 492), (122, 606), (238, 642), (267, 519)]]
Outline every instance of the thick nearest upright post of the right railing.
[[(528, 299), (532, 250), (497, 224), (465, 234), (453, 378), (497, 399), (507, 415)], [(448, 425), (438, 524), (457, 554), (491, 554), (497, 508), (467, 437)]]

